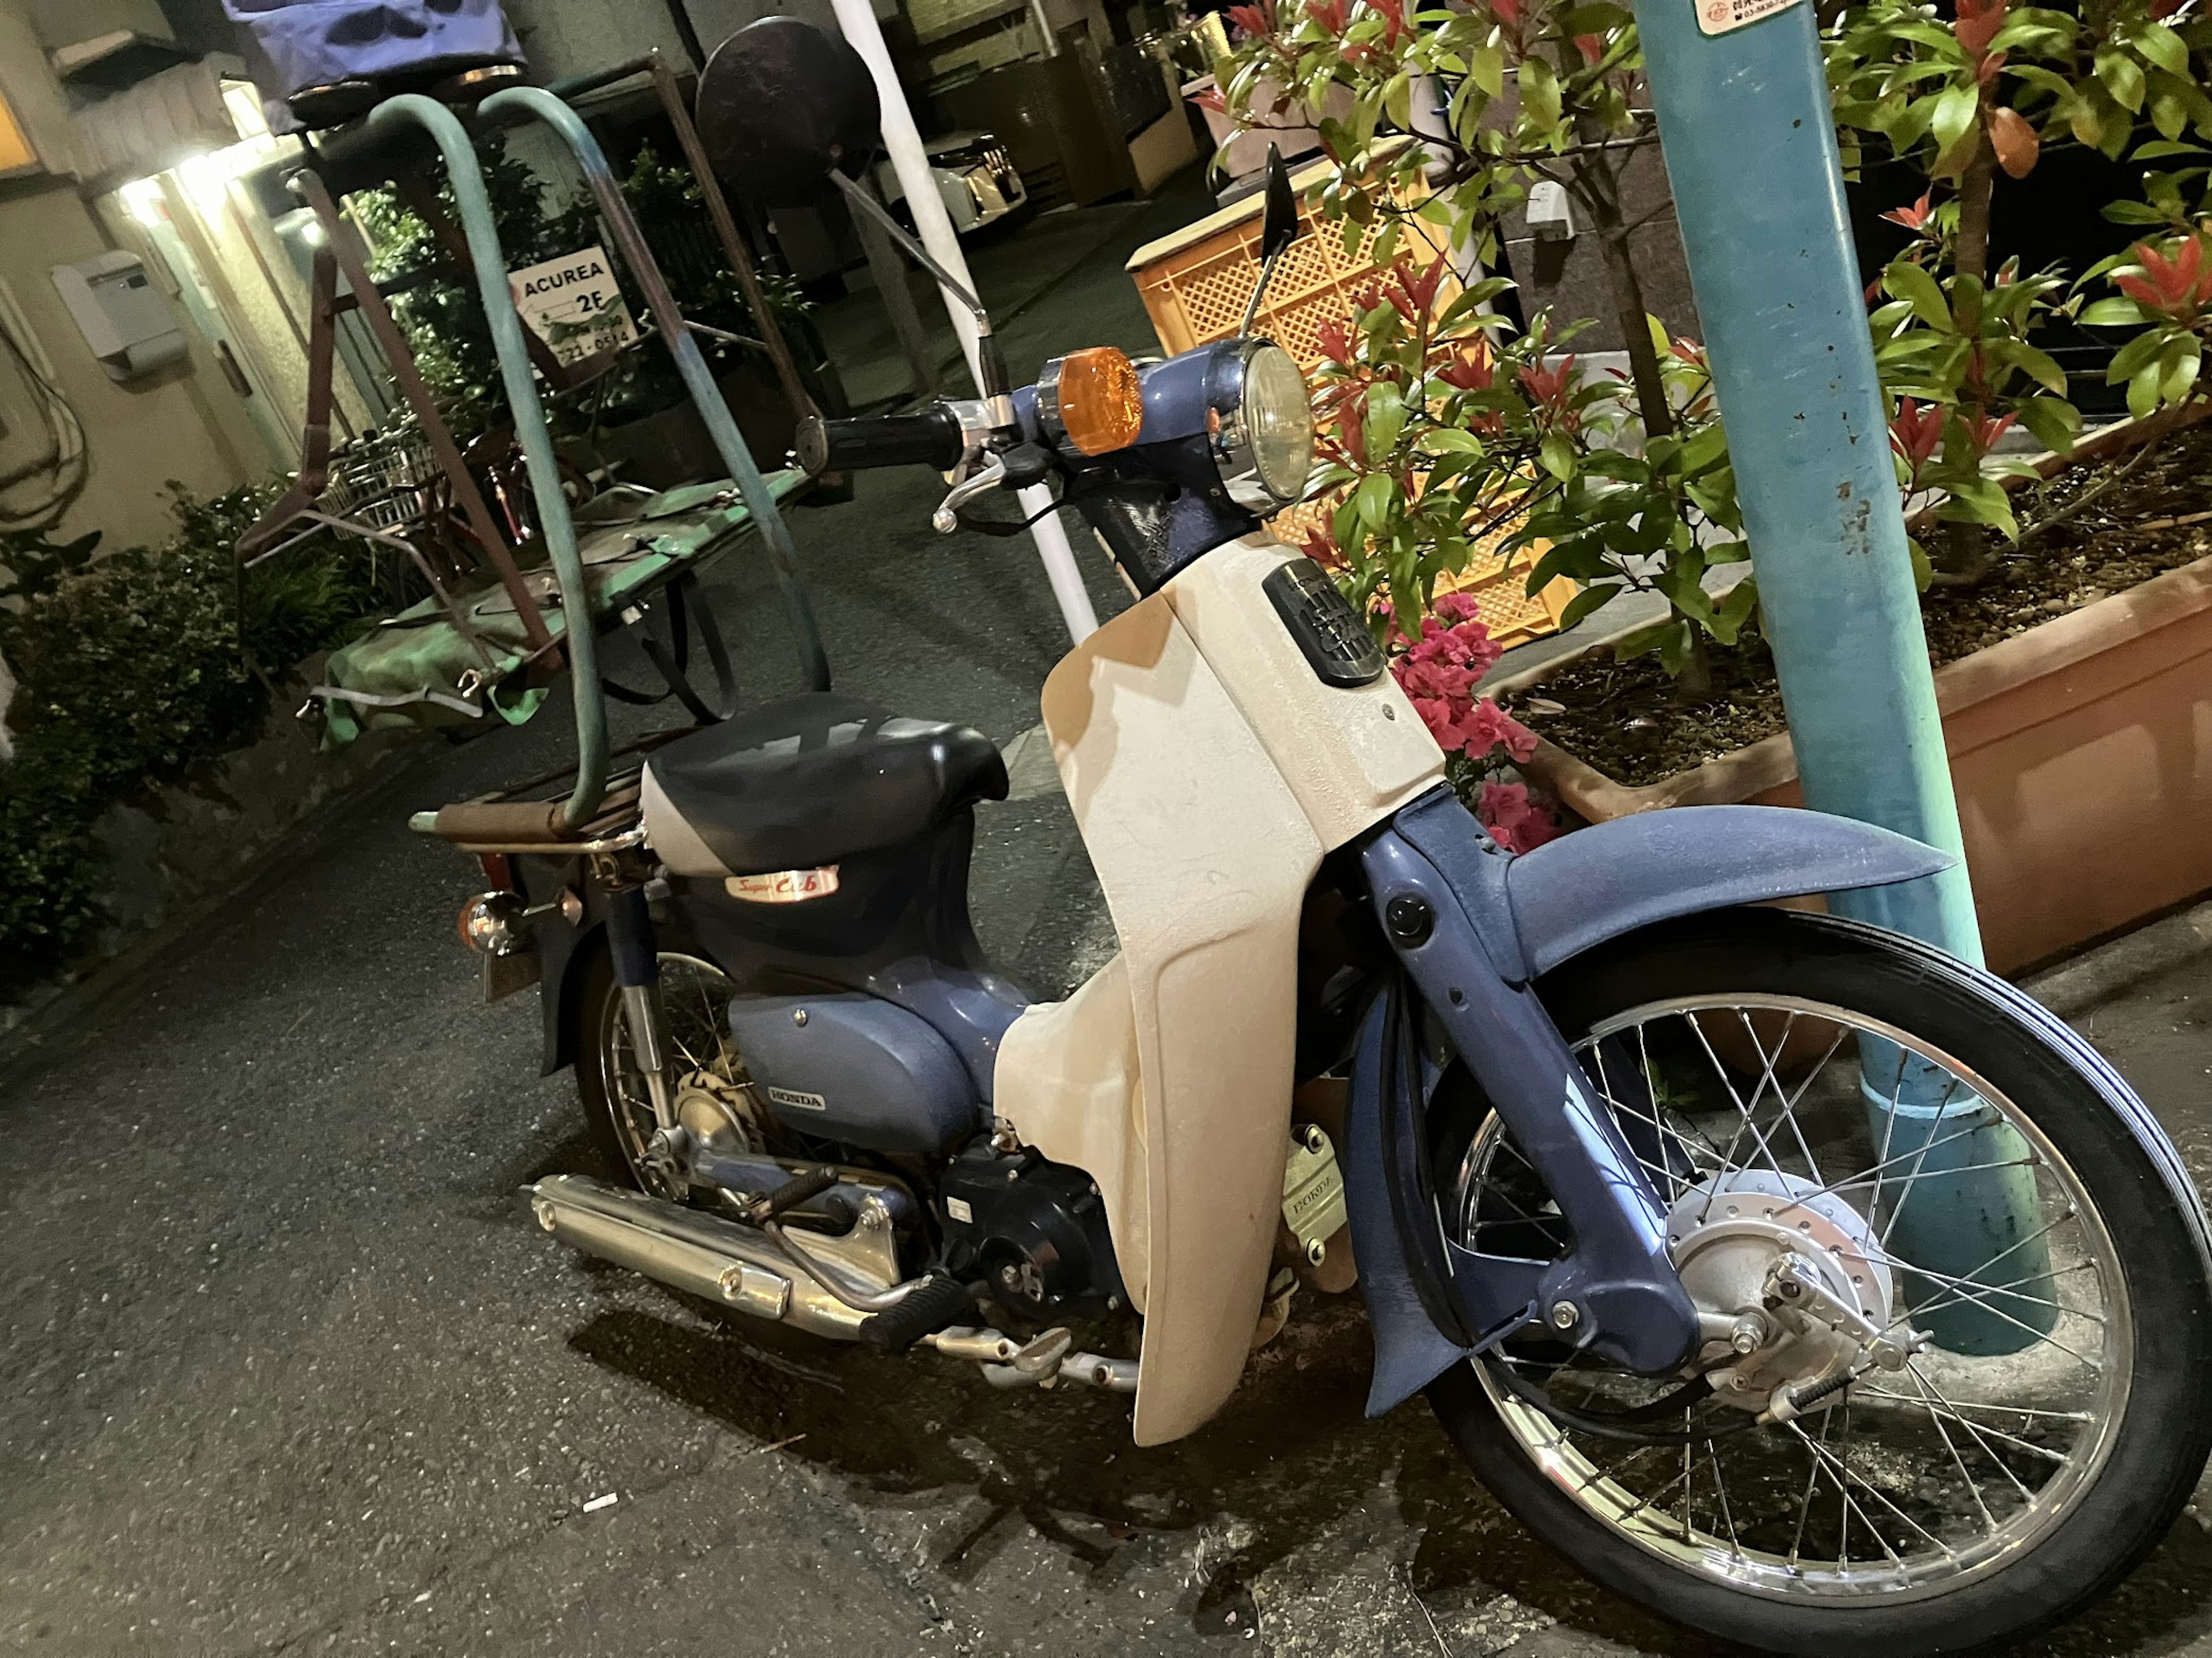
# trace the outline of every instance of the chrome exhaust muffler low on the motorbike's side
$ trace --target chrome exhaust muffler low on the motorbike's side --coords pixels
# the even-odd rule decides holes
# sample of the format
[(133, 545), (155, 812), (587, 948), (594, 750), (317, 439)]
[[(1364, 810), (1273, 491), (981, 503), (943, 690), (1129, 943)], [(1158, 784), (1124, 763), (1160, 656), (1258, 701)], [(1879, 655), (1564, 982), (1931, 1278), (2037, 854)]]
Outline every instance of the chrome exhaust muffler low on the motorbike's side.
[[(588, 1256), (739, 1313), (838, 1342), (860, 1340), (867, 1313), (794, 1271), (754, 1227), (582, 1174), (546, 1176), (529, 1194), (538, 1225)], [(860, 1225), (845, 1236), (794, 1229), (783, 1236), (856, 1289), (883, 1291), (898, 1282), (887, 1216), (863, 1211)]]

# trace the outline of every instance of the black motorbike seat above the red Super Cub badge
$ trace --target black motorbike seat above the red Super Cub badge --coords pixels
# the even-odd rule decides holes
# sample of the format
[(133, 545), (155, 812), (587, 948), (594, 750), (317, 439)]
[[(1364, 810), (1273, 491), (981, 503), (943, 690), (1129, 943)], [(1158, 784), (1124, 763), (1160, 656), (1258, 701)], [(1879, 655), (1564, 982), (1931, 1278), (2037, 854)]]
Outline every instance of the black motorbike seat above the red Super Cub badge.
[(818, 869), (1006, 798), (1006, 763), (982, 732), (836, 692), (679, 736), (646, 769), (732, 875)]

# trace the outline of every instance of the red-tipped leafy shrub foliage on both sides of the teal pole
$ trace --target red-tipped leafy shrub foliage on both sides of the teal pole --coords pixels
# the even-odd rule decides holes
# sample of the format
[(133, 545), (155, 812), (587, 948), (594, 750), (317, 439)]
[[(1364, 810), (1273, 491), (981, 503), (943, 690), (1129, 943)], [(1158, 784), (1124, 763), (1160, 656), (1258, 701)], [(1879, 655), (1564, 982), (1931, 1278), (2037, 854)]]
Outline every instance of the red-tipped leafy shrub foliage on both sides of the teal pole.
[[(1993, 537), (2039, 528), (2015, 522), (2000, 480), (2022, 466), (1995, 442), (2020, 424), (2066, 451), (2081, 424), (2037, 336), (2062, 321), (2139, 329), (2108, 371), (2135, 416), (2208, 396), (2212, 15), (2181, 0), (1840, 0), (1820, 18), (1845, 172), (1905, 166), (1922, 186), (1882, 214), (1913, 241), (1867, 294), (1900, 491), (1944, 493), (1944, 535), (1913, 548), (1916, 573), (1933, 562), (1951, 581), (1989, 579), (2002, 575)], [(1619, 654), (1657, 652), (1699, 701), (1708, 648), (1756, 634), (1756, 588), (1712, 601), (1701, 584), (1750, 548), (1701, 351), (1646, 316), (1624, 186), (1657, 128), (1632, 11), (1250, 0), (1230, 20), (1243, 40), (1219, 71), (1223, 108), (1243, 124), (1316, 122), (1336, 168), (1323, 214), (1347, 248), (1374, 228), (1391, 270), (1336, 332), (1321, 385), (1347, 590), (1387, 595), (1413, 626), (1436, 579), (1467, 566), (1471, 531), (1506, 528), (1504, 548), (1544, 539), (1528, 590), (1573, 577), (1571, 619), (1639, 588), (1668, 601)], [(2148, 234), (2075, 281), (1993, 265), (1995, 175), (2024, 179), (2059, 146), (2172, 166), (2141, 175), (2143, 201), (2104, 208)], [(1577, 382), (1573, 358), (1557, 360), (1588, 318), (1478, 309), (1502, 283), (1431, 316), (1444, 265), (1425, 272), (1418, 245), (1495, 267), (1506, 214), (1540, 183), (1573, 197), (1604, 254), (1619, 382)], [(2117, 292), (2093, 301), (2106, 285)]]

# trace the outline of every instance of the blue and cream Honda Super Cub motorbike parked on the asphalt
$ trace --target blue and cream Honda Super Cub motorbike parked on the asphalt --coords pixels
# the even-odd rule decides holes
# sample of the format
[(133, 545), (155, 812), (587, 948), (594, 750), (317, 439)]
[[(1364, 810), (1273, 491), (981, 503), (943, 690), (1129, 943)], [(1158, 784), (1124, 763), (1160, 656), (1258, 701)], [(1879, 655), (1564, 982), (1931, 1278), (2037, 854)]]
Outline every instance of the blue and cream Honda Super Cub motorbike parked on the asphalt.
[[(865, 168), (841, 42), (772, 20), (712, 75), (730, 166)], [(1584, 1572), (1774, 1651), (2002, 1645), (2124, 1574), (2212, 1430), (2172, 1145), (2006, 984), (1750, 909), (1944, 856), (1756, 807), (1506, 856), (1261, 531), (1312, 451), (1279, 347), (984, 365), (801, 453), (940, 469), (945, 524), (1051, 484), (1113, 550), (1139, 599), (1044, 727), (1119, 955), (1066, 1001), (1000, 977), (967, 915), (998, 749), (832, 692), (653, 747), (582, 820), (447, 807), (498, 886), (465, 926), (535, 966), (630, 1176), (540, 1180), (538, 1222), (737, 1315), (1128, 1393), (1141, 1444), (1221, 1408), (1281, 1273), (1356, 1265), (1371, 1413), (1425, 1391)]]

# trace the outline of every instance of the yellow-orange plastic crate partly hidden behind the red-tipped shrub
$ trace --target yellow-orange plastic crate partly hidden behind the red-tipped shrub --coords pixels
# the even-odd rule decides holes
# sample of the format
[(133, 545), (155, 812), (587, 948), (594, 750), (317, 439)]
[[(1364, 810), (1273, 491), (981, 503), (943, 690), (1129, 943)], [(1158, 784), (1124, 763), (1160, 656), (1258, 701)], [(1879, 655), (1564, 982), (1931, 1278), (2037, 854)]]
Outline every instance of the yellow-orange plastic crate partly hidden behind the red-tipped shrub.
[[(1345, 250), (1343, 223), (1321, 217), (1316, 203), (1307, 201), (1310, 186), (1329, 175), (1329, 164), (1318, 164), (1292, 175), (1298, 188), (1298, 217), (1307, 234), (1290, 245), (1276, 267), (1267, 301), (1259, 309), (1254, 329), (1290, 351), (1307, 380), (1321, 369), (1321, 325), (1345, 323), (1356, 303), (1354, 292), (1380, 279), (1374, 263), (1374, 241), (1380, 225), (1367, 225), (1352, 252)], [(1400, 192), (1398, 206), (1413, 208), (1420, 197)], [(1219, 212), (1210, 212), (1197, 223), (1183, 225), (1172, 237), (1146, 243), (1130, 254), (1128, 272), (1137, 281), (1137, 294), (1152, 318), (1159, 345), (1168, 356), (1179, 356), (1197, 345), (1212, 345), (1237, 334), (1243, 323), (1243, 307), (1252, 298), (1259, 281), (1259, 234), (1263, 199), (1245, 197)], [(1442, 250), (1442, 228), (1425, 219), (1405, 219), (1400, 252), (1427, 267)], [(1460, 283), (1447, 270), (1438, 287), (1438, 309), (1460, 294)], [(1325, 526), (1332, 506), (1307, 502), (1279, 513), (1270, 528), (1285, 542), (1303, 542)], [(1504, 539), (1502, 535), (1489, 537)], [(1544, 639), (1559, 630), (1559, 615), (1575, 597), (1575, 584), (1559, 579), (1528, 595), (1528, 570), (1544, 555), (1544, 546), (1526, 546), (1509, 559), (1489, 564), (1478, 557), (1469, 568), (1449, 581), (1447, 590), (1469, 592), (1482, 610), (1482, 623), (1491, 639), (1504, 646)]]

